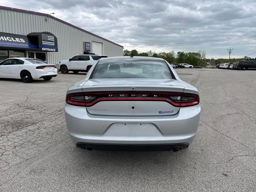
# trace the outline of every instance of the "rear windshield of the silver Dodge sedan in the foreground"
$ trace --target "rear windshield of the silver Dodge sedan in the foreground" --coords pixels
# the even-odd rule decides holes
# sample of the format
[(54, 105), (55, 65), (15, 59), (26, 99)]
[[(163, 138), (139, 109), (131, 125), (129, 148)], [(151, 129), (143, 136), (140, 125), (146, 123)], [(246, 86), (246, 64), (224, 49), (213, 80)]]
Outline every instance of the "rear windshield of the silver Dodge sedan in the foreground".
[(172, 75), (163, 60), (112, 59), (100, 60), (92, 72), (92, 78), (163, 78)]

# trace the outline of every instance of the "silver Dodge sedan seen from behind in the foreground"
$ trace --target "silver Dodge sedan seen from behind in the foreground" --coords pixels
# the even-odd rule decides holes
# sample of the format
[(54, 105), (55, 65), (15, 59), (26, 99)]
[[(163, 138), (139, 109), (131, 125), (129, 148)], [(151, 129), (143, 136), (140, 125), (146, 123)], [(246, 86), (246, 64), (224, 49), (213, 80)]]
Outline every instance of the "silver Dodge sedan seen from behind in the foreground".
[(162, 58), (98, 60), (70, 86), (65, 114), (78, 148), (173, 150), (188, 148), (198, 129), (198, 90)]

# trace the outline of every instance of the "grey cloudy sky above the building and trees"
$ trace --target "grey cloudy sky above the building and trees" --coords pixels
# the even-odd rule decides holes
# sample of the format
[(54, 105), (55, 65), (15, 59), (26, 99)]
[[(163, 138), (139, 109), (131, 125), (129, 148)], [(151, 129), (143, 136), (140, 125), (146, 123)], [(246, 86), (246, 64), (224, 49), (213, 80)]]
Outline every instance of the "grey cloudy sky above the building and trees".
[[(56, 17), (117, 42), (124, 49), (197, 52), (207, 58), (243, 57), (256, 38), (204, 44), (186, 42), (256, 36), (256, 0), (1, 0), (0, 5), (54, 12)], [(164, 46), (144, 46), (172, 44)], [(256, 53), (250, 55), (256, 57)]]

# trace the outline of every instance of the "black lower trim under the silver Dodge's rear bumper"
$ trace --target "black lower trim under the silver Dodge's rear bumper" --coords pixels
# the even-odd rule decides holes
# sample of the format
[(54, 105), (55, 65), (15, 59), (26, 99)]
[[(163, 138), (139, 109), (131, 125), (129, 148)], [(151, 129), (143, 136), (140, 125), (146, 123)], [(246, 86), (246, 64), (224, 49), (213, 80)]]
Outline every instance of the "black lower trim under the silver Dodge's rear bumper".
[(104, 150), (104, 151), (169, 151), (181, 150), (188, 148), (188, 143), (173, 144), (101, 144), (101, 143), (76, 143), (78, 148), (88, 150)]

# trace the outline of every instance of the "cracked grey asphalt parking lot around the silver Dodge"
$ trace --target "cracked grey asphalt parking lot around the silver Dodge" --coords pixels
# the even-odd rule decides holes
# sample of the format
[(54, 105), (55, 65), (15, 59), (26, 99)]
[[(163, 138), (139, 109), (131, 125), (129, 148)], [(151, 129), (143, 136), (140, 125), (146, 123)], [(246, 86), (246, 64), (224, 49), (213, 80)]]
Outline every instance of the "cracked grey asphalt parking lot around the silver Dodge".
[(0, 191), (255, 191), (255, 71), (176, 71), (202, 107), (193, 144), (178, 152), (76, 148), (65, 94), (85, 74), (0, 79)]

